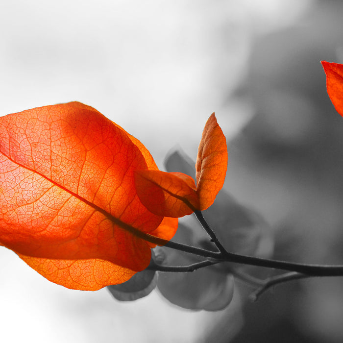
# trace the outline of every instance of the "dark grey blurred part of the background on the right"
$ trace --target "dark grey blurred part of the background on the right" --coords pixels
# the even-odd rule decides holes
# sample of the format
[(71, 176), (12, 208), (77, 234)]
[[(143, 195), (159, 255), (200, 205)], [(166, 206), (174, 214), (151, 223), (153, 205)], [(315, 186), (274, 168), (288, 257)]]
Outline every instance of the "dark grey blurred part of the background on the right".
[[(228, 175), (275, 228), (276, 259), (343, 261), (343, 121), (320, 65), (343, 62), (342, 11), (316, 1), (292, 27), (256, 37), (237, 93), (254, 117), (231, 142)], [(233, 342), (342, 342), (342, 288), (341, 278), (280, 285), (245, 304)]]

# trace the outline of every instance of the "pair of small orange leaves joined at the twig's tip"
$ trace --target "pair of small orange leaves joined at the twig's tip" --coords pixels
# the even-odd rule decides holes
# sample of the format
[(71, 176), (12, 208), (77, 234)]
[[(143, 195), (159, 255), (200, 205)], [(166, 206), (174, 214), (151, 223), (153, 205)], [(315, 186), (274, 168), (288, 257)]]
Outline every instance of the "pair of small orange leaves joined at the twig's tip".
[(198, 148), (196, 182), (180, 172), (137, 171), (137, 194), (154, 214), (183, 217), (211, 206), (221, 190), (227, 169), (226, 139), (213, 113)]

